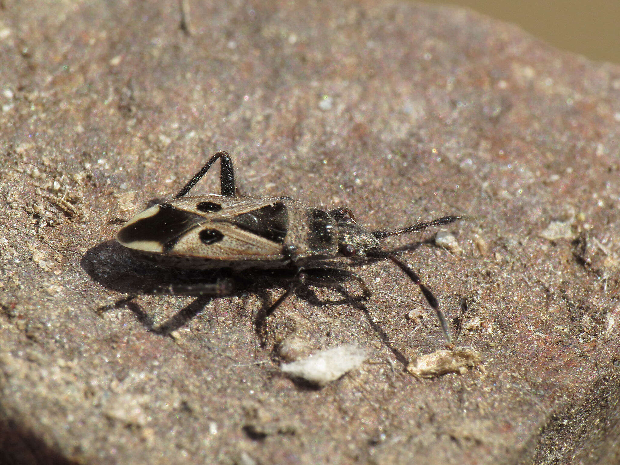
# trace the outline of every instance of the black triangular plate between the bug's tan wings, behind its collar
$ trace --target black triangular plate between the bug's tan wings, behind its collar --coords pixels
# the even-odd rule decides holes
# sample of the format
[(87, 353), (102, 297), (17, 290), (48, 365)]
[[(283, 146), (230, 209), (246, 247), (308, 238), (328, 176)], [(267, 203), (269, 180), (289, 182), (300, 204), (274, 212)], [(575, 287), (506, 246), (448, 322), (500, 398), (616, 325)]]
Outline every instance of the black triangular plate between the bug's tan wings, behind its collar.
[(241, 213), (235, 216), (231, 223), (268, 241), (283, 244), (288, 226), (288, 213), (286, 205), (277, 202)]

